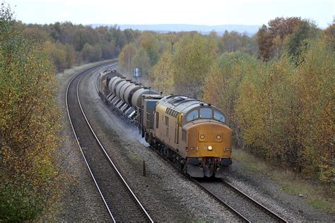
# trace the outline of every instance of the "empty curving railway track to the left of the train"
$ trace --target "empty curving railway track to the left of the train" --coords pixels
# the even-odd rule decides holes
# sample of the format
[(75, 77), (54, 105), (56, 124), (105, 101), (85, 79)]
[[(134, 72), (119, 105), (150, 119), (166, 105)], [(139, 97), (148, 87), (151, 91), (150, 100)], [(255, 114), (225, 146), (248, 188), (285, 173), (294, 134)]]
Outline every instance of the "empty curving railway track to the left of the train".
[(90, 175), (98, 188), (113, 222), (153, 222), (148, 212), (115, 167), (112, 159), (95, 135), (81, 107), (78, 86), (86, 74), (103, 65), (78, 73), (66, 90), (66, 107), (72, 130), (86, 162)]

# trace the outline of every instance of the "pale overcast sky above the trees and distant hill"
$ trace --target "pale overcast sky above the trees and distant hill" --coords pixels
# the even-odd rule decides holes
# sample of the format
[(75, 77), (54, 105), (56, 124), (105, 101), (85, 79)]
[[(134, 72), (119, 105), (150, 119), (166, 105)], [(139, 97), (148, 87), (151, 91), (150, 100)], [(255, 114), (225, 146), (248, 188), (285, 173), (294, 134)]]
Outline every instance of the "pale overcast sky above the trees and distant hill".
[[(3, 0), (0, 0), (3, 1)], [(6, 0), (23, 23), (262, 25), (276, 17), (332, 23), (335, 0)]]

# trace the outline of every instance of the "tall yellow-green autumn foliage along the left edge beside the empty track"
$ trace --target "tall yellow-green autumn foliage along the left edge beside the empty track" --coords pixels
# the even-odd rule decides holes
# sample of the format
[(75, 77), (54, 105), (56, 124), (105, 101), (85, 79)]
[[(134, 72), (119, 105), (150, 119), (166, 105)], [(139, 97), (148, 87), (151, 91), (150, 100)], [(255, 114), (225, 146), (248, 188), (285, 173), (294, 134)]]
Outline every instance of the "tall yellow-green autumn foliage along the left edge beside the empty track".
[(0, 221), (42, 219), (59, 196), (59, 109), (43, 44), (0, 10)]

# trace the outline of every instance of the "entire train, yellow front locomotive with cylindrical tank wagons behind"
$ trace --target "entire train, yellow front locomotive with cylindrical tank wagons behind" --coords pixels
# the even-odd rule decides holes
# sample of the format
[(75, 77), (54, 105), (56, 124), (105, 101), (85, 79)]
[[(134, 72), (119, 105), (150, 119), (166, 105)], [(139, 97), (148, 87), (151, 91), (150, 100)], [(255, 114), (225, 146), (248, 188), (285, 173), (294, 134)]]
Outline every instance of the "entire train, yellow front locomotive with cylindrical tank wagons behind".
[(164, 96), (103, 71), (98, 94), (115, 112), (141, 130), (142, 137), (192, 177), (222, 178), (232, 164), (232, 130), (220, 109), (180, 95)]

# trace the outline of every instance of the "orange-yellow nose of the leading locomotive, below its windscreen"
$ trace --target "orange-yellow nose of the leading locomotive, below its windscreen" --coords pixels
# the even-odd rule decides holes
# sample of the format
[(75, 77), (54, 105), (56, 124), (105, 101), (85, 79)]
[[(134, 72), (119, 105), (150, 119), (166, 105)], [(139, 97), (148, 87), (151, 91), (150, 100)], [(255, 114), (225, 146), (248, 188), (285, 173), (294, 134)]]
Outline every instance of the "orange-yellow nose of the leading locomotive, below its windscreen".
[(222, 123), (203, 119), (184, 127), (187, 129), (187, 174), (227, 176), (232, 163), (232, 130)]

